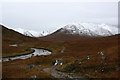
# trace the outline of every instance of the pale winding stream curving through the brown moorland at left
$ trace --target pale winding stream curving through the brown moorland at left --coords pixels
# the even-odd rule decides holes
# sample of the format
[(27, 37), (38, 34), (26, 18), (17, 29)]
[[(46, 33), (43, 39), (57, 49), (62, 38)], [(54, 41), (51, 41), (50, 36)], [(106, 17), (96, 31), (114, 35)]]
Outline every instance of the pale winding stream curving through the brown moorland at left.
[(35, 51), (33, 53), (26, 54), (26, 55), (9, 57), (9, 58), (2, 58), (2, 59), (0, 59), (0, 62), (16, 60), (16, 59), (27, 59), (27, 58), (30, 58), (32, 56), (50, 55), (52, 53), (51, 51), (48, 51), (45, 49), (37, 49), (37, 48), (31, 48), (31, 49), (34, 49)]

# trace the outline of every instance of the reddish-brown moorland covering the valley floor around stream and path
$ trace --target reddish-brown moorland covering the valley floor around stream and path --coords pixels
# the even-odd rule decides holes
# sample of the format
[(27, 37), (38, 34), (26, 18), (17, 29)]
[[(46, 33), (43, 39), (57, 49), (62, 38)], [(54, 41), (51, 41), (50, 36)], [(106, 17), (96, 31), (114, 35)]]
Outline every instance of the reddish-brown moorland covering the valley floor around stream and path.
[[(120, 35), (72, 41), (65, 36), (65, 40), (59, 38), (44, 40), (44, 38), (26, 37), (6, 29), (3, 27), (3, 55), (19, 53), (30, 47), (46, 48), (51, 50), (53, 54), (3, 62), (3, 78), (30, 78), (33, 75), (37, 75), (38, 78), (53, 78), (44, 71), (44, 68), (53, 66), (55, 60), (63, 62), (63, 65), (56, 67), (56, 70), (61, 72), (77, 73), (88, 78), (119, 78), (118, 47), (120, 45), (118, 37)], [(11, 38), (12, 33), (14, 38)], [(17, 37), (18, 35), (23, 36), (22, 39)], [(8, 46), (15, 43), (20, 44), (20, 46), (18, 48)], [(34, 67), (26, 68), (29, 64), (34, 65)], [(41, 71), (37, 68), (40, 68)]]

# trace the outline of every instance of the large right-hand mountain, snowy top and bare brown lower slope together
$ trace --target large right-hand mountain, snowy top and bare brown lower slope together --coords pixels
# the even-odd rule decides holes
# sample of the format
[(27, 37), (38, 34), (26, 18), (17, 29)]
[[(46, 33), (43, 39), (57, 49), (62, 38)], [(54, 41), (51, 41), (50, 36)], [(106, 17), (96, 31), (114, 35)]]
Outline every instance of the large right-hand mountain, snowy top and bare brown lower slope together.
[(74, 23), (58, 29), (56, 32), (44, 36), (43, 40), (81, 40), (118, 34), (118, 28), (105, 24)]

